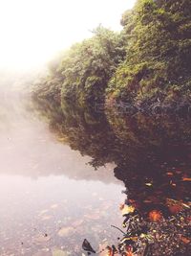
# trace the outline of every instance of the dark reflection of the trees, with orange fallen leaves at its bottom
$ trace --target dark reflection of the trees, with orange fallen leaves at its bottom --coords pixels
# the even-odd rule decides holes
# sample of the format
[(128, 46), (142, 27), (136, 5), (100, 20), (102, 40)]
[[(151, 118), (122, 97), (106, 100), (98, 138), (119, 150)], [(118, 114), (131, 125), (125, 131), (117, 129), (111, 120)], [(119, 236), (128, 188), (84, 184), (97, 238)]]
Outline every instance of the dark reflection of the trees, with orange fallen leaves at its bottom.
[[(136, 216), (140, 225), (146, 225), (146, 231), (142, 230), (134, 220), (134, 228), (131, 232), (127, 230), (127, 234), (124, 232), (117, 246), (121, 255), (128, 250), (141, 255), (145, 244), (150, 245), (150, 252), (145, 255), (189, 255), (191, 119), (188, 112), (179, 115), (169, 111), (150, 115), (137, 112), (128, 116), (107, 107), (104, 115), (91, 106), (81, 108), (69, 102), (59, 106), (56, 101), (34, 99), (34, 104), (49, 121), (58, 140), (92, 157), (90, 165), (97, 168), (115, 163), (115, 176), (126, 188), (121, 209), (131, 209), (123, 214), (123, 224)], [(169, 219), (172, 216), (175, 221)], [(141, 237), (152, 237), (152, 232), (157, 237), (141, 241)], [(138, 238), (136, 242), (130, 239), (132, 236)], [(114, 254), (116, 248), (109, 250)]]

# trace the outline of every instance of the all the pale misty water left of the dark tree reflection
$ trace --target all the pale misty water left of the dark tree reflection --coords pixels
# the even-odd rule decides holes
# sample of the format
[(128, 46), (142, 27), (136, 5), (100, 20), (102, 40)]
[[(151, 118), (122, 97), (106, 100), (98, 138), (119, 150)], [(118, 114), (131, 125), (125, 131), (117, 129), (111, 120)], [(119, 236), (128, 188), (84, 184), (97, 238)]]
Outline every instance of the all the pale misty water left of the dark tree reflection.
[(4, 100), (0, 255), (54, 255), (58, 249), (81, 255), (85, 238), (97, 248), (117, 237), (111, 224), (122, 220), (117, 209), (124, 196), (114, 165), (95, 171), (86, 164), (90, 157), (57, 142), (16, 100)]

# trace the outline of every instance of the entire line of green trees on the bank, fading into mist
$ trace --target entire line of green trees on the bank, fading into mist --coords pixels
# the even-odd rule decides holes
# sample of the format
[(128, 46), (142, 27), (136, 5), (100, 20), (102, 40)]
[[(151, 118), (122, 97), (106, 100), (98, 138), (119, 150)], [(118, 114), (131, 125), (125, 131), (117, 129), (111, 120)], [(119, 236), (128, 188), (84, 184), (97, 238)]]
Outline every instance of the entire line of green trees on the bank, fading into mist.
[(77, 107), (189, 104), (190, 0), (138, 0), (120, 23), (120, 33), (99, 26), (92, 38), (54, 59), (33, 97)]

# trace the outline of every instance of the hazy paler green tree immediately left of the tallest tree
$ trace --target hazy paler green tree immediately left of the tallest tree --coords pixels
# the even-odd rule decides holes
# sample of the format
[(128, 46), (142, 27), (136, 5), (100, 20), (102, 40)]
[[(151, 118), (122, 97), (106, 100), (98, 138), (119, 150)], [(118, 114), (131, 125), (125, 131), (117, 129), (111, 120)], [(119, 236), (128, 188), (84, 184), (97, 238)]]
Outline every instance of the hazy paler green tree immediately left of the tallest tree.
[(63, 103), (92, 105), (104, 101), (105, 88), (124, 56), (120, 36), (102, 27), (75, 44), (59, 67), (63, 76)]

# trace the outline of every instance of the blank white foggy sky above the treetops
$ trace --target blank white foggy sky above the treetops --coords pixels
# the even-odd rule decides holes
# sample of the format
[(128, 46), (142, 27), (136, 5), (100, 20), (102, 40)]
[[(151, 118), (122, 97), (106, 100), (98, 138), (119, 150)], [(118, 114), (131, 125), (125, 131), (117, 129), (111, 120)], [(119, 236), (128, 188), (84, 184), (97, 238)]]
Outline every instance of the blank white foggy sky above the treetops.
[(99, 24), (120, 30), (136, 0), (0, 0), (0, 68), (41, 66)]

